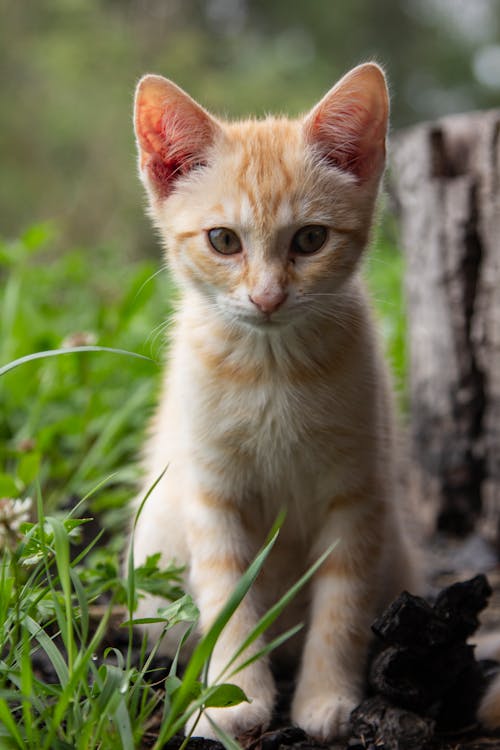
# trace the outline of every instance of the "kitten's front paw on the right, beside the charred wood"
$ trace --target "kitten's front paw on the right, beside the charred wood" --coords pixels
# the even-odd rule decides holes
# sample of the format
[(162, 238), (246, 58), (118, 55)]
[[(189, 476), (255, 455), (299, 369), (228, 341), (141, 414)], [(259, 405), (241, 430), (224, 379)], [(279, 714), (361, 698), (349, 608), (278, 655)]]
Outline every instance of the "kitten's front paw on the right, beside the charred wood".
[(348, 734), (351, 711), (358, 703), (357, 700), (335, 693), (313, 695), (300, 703), (294, 703), (292, 720), (314, 739), (327, 742)]

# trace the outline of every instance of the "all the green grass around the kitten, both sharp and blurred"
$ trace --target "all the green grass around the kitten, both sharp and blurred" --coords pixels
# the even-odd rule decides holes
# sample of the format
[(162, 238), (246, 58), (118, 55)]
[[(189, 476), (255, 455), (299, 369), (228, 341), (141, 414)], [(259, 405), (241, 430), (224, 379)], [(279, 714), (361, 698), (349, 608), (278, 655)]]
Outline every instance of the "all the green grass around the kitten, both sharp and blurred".
[[(241, 668), (245, 650), (312, 571), (264, 615), (215, 684), (206, 680), (211, 650), (263, 564), (276, 529), (195, 650), (183, 680), (176, 659), (164, 696), (154, 690), (148, 681), (154, 649), (148, 655), (145, 644), (141, 663), (132, 664), (132, 622), (141, 591), (172, 601), (159, 615), (165, 628), (178, 621), (191, 627), (197, 618), (194, 603), (179, 590), (178, 570), (160, 571), (153, 556), (135, 572), (130, 559), (123, 576), (118, 562), (175, 291), (167, 275), (158, 273), (159, 262), (118, 261), (116, 252), (104, 247), (56, 256), (52, 239), (50, 226), (36, 226), (14, 242), (0, 242), (0, 371), (68, 343), (87, 347), (33, 359), (0, 376), (0, 498), (36, 498), (38, 519), (22, 533), (13, 528), (0, 534), (0, 747), (138, 748), (148, 719), (160, 711), (159, 750), (203, 706), (245, 699), (230, 685), (235, 665)], [(402, 260), (387, 223), (375, 244), (368, 281), (388, 355), (404, 383)], [(141, 358), (91, 351), (96, 347)], [(106, 545), (93, 538), (77, 551), (73, 545), (80, 539), (81, 546), (91, 517), (98, 518)], [(96, 625), (92, 608), (103, 601), (105, 614)], [(110, 651), (97, 666), (93, 655), (106, 649), (116, 606), (128, 610), (129, 647), (124, 654)], [(35, 649), (52, 663), (55, 684), (33, 671)], [(230, 738), (220, 736), (234, 748)]]

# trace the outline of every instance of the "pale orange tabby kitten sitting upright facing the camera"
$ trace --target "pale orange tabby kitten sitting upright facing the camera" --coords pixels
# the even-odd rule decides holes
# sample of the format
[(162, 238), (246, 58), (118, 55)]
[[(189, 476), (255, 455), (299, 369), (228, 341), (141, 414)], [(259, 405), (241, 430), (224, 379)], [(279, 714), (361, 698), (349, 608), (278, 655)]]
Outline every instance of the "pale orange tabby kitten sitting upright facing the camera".
[[(287, 509), (216, 646), (215, 677), (338, 539), (279, 625), (307, 623), (284, 657), (302, 650), (292, 719), (322, 740), (346, 730), (362, 697), (375, 614), (415, 588), (394, 492), (391, 385), (359, 273), (388, 109), (371, 63), (297, 120), (222, 122), (159, 76), (143, 78), (136, 96), (140, 174), (182, 298), (145, 486), (168, 470), (139, 520), (135, 559), (160, 551), (186, 564), (204, 631)], [(160, 604), (142, 600), (139, 616)], [(212, 719), (235, 736), (265, 727), (269, 664), (234, 681), (251, 703)], [(206, 718), (197, 733), (214, 736)]]

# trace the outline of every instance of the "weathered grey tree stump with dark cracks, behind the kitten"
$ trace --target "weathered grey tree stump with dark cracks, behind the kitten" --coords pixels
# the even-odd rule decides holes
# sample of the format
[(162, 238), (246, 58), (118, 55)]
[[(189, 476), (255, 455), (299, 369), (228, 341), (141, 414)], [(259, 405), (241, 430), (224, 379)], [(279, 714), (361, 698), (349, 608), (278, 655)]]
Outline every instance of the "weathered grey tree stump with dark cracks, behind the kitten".
[(407, 259), (410, 487), (428, 528), (500, 538), (500, 110), (392, 143)]

